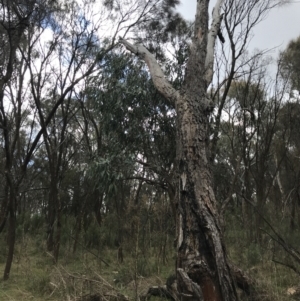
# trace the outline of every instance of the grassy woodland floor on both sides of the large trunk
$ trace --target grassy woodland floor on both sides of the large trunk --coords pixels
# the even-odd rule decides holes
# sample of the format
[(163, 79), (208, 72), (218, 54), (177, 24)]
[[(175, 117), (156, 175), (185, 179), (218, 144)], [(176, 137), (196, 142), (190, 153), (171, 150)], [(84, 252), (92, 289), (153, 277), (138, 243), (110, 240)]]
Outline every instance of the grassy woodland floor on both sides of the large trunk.
[[(3, 237), (0, 244), (1, 271), (4, 270), (6, 253), (2, 242)], [(272, 262), (273, 250), (268, 243), (264, 248), (255, 244), (246, 247), (243, 243), (240, 233), (227, 233), (230, 260), (258, 281), (266, 292), (266, 300), (297, 300), (288, 292), (299, 285), (299, 277), (287, 267)], [(116, 248), (101, 248), (101, 251), (78, 248), (75, 255), (71, 250), (71, 244), (62, 246), (59, 262), (54, 265), (44, 243), (31, 235), (23, 236), (16, 245), (10, 279), (0, 280), (0, 301), (89, 301), (93, 299), (88, 297), (94, 295), (104, 296), (103, 300), (117, 300), (120, 295), (136, 300), (149, 287), (165, 284), (174, 269), (175, 252), (171, 247), (165, 263), (155, 249), (149, 249), (145, 255), (127, 246), (123, 263), (118, 262)], [(241, 300), (249, 299), (241, 295)]]

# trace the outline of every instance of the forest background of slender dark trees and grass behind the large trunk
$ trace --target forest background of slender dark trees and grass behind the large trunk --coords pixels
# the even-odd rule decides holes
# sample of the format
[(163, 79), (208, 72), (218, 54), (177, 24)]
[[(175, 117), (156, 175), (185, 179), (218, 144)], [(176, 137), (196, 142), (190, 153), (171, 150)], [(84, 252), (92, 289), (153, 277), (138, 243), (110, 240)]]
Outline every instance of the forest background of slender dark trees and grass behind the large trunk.
[[(180, 89), (193, 23), (176, 2), (1, 1), (0, 300), (139, 299), (174, 273), (176, 113), (118, 38)], [(300, 40), (247, 51), (279, 4), (224, 2), (208, 91), (227, 253), (260, 300), (299, 292)]]

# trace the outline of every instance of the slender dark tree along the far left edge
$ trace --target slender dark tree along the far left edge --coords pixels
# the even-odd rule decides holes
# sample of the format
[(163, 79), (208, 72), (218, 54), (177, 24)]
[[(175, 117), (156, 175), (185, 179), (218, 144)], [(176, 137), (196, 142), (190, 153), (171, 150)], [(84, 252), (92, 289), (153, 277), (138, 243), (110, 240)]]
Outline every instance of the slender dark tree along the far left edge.
[[(3, 229), (7, 217), (9, 218), (8, 230), (8, 256), (4, 270), (4, 279), (8, 279), (13, 259), (16, 227), (16, 204), (20, 178), (16, 179), (13, 173), (14, 154), (18, 151), (20, 129), (22, 124), (22, 82), (24, 81), (24, 61), (19, 61), (17, 49), (24, 41), (24, 33), (30, 24), (34, 13), (34, 1), (23, 7), (16, 1), (1, 2), (1, 69), (0, 69), (0, 124), (4, 146), (4, 200), (1, 206), (1, 227)], [(18, 67), (18, 73), (14, 72)], [(14, 77), (15, 75), (15, 77)], [(12, 88), (12, 81), (18, 81), (17, 94)], [(6, 92), (13, 106), (12, 111), (7, 110)], [(10, 118), (12, 113), (12, 119)], [(14, 123), (12, 123), (14, 122)]]

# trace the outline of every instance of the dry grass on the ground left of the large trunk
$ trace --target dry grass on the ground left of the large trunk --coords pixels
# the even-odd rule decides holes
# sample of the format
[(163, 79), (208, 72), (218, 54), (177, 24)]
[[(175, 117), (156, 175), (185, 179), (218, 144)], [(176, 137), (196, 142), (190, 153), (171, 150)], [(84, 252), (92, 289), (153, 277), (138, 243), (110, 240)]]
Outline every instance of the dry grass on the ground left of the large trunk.
[[(162, 285), (173, 267), (172, 264), (172, 267), (157, 268), (155, 263), (131, 254), (119, 264), (117, 250), (103, 252), (103, 259), (109, 263), (106, 266), (90, 252), (73, 255), (66, 249), (62, 250), (59, 263), (54, 265), (51, 255), (44, 251), (45, 246), (37, 246), (30, 237), (24, 241), (26, 243), (16, 246), (10, 279), (0, 280), (1, 301), (134, 300), (150, 286)], [(1, 271), (5, 265), (3, 258)], [(136, 267), (147, 275), (140, 274)]]

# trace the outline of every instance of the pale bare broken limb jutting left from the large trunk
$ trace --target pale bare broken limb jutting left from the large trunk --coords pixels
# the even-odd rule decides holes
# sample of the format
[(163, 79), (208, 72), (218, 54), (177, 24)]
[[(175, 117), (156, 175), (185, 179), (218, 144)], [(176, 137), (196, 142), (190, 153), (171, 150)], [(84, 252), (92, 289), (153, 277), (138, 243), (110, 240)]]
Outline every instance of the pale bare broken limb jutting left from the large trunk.
[(173, 104), (179, 98), (179, 92), (175, 90), (169, 81), (165, 78), (163, 71), (157, 63), (155, 57), (150, 53), (146, 47), (141, 44), (131, 44), (120, 37), (119, 42), (123, 44), (127, 50), (136, 54), (139, 58), (145, 61), (156, 89)]

